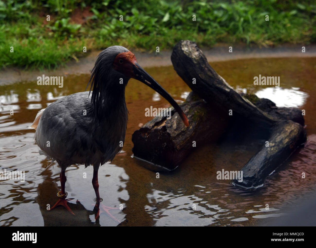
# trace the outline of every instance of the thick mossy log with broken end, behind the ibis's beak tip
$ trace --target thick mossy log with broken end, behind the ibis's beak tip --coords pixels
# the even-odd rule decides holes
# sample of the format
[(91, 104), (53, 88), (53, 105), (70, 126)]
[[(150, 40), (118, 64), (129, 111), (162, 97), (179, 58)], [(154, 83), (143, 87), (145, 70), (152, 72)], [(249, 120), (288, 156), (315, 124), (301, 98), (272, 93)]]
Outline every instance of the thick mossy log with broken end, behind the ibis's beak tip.
[[(210, 108), (204, 100), (191, 92), (181, 109), (190, 123), (186, 128), (178, 113), (172, 111), (172, 118), (157, 116), (132, 135), (134, 156), (156, 165), (155, 170), (175, 169), (186, 155), (199, 145), (216, 141), (228, 126), (228, 115), (216, 108)], [(216, 116), (216, 118), (214, 118)], [(161, 166), (161, 167), (158, 167)]]

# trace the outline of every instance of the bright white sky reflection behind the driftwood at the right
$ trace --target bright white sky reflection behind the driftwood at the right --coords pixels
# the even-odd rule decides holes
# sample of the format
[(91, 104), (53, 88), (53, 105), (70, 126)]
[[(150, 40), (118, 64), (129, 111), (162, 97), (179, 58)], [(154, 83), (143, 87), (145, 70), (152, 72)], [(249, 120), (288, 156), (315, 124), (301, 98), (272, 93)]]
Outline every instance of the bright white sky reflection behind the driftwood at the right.
[(296, 87), (290, 89), (269, 87), (261, 89), (255, 94), (259, 98), (270, 99), (277, 107), (300, 107), (305, 104), (308, 94), (299, 89)]

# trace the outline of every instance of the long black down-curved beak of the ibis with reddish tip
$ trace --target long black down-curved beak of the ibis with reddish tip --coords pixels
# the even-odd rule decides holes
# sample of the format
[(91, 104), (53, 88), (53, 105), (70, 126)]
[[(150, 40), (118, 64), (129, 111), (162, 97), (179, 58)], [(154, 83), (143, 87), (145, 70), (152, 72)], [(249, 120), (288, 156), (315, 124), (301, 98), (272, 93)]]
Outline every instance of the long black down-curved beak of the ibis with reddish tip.
[(143, 82), (144, 84), (148, 85), (150, 88), (158, 92), (163, 98), (165, 98), (172, 106), (173, 108), (179, 113), (179, 116), (181, 117), (184, 125), (186, 127), (189, 127), (189, 121), (186, 118), (185, 114), (179, 107), (179, 105), (173, 100), (173, 98), (168, 94), (167, 91), (163, 87), (159, 85), (153, 79), (140, 65), (137, 63), (134, 63), (133, 65), (133, 72), (134, 75), (132, 76), (133, 78), (137, 79), (140, 82)]

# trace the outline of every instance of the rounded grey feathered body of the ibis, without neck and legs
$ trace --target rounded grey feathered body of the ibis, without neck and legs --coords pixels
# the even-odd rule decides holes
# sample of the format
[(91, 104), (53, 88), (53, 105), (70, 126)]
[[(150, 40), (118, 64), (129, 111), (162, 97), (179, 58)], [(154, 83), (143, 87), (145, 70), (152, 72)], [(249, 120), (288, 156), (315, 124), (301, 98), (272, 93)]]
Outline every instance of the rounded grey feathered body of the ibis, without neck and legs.
[(45, 154), (58, 162), (103, 164), (121, 150), (127, 109), (105, 110), (102, 122), (95, 119), (89, 92), (75, 93), (50, 104), (42, 113), (35, 141)]

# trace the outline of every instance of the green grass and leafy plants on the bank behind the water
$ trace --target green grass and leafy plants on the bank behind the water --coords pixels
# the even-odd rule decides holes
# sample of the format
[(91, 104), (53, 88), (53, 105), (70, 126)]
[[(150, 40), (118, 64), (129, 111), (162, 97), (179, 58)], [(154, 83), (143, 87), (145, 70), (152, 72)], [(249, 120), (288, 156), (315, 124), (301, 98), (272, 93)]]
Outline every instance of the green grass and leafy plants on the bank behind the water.
[[(83, 25), (72, 23), (74, 9), (87, 6), (94, 15)], [(51, 21), (44, 25), (46, 14)], [(315, 14), (314, 1), (296, 0), (0, 0), (0, 66), (56, 68), (84, 56), (83, 46), (153, 52), (183, 39), (208, 47), (217, 42), (309, 44), (316, 42)]]

